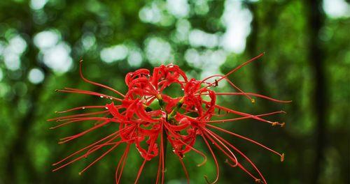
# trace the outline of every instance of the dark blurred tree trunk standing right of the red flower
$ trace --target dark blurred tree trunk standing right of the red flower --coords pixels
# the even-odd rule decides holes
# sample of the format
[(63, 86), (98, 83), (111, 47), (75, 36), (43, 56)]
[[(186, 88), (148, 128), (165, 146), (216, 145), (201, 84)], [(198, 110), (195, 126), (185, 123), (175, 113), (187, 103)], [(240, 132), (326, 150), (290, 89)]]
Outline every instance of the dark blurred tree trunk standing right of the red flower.
[(325, 124), (327, 91), (325, 84), (324, 56), (321, 49), (318, 32), (323, 26), (324, 13), (321, 0), (305, 1), (307, 7), (307, 21), (309, 24), (309, 62), (314, 75), (314, 114), (316, 115), (316, 127), (314, 132), (315, 153), (314, 173), (311, 175), (311, 183), (318, 183), (321, 174), (321, 164), (324, 160), (325, 148)]

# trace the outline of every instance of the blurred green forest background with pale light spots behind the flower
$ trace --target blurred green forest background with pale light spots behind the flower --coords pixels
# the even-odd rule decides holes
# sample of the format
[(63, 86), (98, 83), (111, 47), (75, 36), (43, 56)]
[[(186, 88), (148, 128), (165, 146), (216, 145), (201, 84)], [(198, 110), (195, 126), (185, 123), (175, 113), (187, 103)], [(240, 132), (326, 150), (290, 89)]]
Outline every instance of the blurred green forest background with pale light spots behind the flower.
[[(268, 119), (284, 121), (286, 127), (250, 120), (225, 128), (285, 153), (286, 160), (279, 162), (244, 140), (223, 135), (225, 139), (241, 148), (269, 183), (350, 183), (348, 0), (3, 0), (0, 10), (0, 183), (114, 182), (125, 146), (82, 176), (78, 171), (94, 157), (50, 171), (53, 162), (113, 130), (108, 126), (64, 145), (57, 145), (59, 138), (91, 125), (48, 130), (52, 122), (46, 119), (55, 117), (55, 111), (106, 103), (54, 92), (63, 87), (106, 92), (79, 78), (80, 59), (89, 79), (125, 92), (124, 76), (137, 68), (175, 63), (200, 79), (228, 72), (261, 52), (266, 52), (262, 59), (230, 79), (244, 91), (293, 102), (219, 101), (254, 114), (283, 109), (288, 114)], [(196, 145), (203, 147), (202, 140)], [(139, 153), (132, 152), (122, 183), (133, 183), (141, 164)], [(219, 183), (253, 183), (217, 153)], [(200, 161), (186, 155), (193, 183), (205, 183), (204, 174), (215, 177), (212, 160), (196, 167)], [(167, 166), (167, 183), (186, 182), (174, 155), (168, 154)], [(155, 176), (156, 162), (149, 162), (140, 183), (153, 183)]]

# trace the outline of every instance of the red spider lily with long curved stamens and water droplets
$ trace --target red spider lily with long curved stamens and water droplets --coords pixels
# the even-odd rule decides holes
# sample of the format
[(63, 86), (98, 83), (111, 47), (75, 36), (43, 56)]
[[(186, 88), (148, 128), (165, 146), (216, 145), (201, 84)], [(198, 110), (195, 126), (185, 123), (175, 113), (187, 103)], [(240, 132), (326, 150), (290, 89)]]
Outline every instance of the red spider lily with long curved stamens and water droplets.
[[(228, 107), (223, 107), (216, 104), (216, 98), (218, 95), (245, 95), (251, 102), (255, 102), (251, 96), (258, 98), (265, 98), (267, 100), (272, 100), (274, 102), (290, 102), (276, 100), (274, 98), (269, 98), (265, 95), (259, 95), (255, 93), (245, 93), (239, 89), (233, 82), (228, 79), (228, 75), (239, 68), (251, 63), (255, 59), (258, 59), (263, 54), (255, 56), (253, 59), (242, 63), (240, 66), (231, 70), (226, 75), (213, 75), (202, 80), (188, 79), (185, 72), (179, 68), (179, 66), (170, 64), (167, 66), (159, 66), (153, 69), (151, 73), (146, 69), (139, 69), (135, 72), (130, 72), (125, 77), (125, 84), (128, 87), (127, 93), (124, 95), (109, 86), (99, 84), (97, 82), (92, 82), (83, 76), (82, 72), (82, 62), (80, 61), (80, 77), (87, 83), (93, 84), (95, 86), (102, 87), (113, 93), (116, 93), (116, 97), (112, 95), (105, 95), (102, 93), (97, 93), (94, 91), (84, 91), (80, 89), (64, 88), (63, 90), (57, 90), (65, 93), (79, 93), (86, 95), (96, 95), (101, 98), (109, 98), (111, 103), (106, 105), (94, 105), (94, 106), (83, 106), (75, 107), (73, 109), (68, 109), (66, 111), (57, 112), (58, 114), (64, 114), (67, 112), (75, 112), (80, 109), (97, 109), (97, 112), (87, 112), (83, 114), (75, 114), (69, 116), (61, 116), (59, 118), (52, 118), (48, 121), (58, 121), (62, 122), (53, 128), (62, 127), (64, 125), (69, 125), (71, 123), (77, 123), (82, 121), (95, 121), (92, 128), (80, 132), (76, 135), (71, 135), (69, 137), (64, 137), (59, 141), (59, 144), (64, 144), (68, 141), (81, 137), (93, 130), (99, 128), (104, 128), (104, 125), (110, 123), (117, 123), (118, 128), (111, 135), (107, 135), (103, 139), (96, 141), (89, 146), (81, 148), (79, 151), (72, 153), (63, 160), (53, 164), (58, 169), (62, 169), (67, 165), (76, 162), (82, 158), (86, 158), (95, 151), (107, 147), (109, 148), (105, 151), (99, 158), (94, 160), (92, 163), (88, 164), (79, 174), (83, 173), (91, 167), (94, 163), (104, 158), (104, 156), (111, 151), (113, 151), (120, 144), (126, 144), (125, 151), (120, 158), (117, 168), (116, 168), (116, 183), (120, 183), (120, 178), (123, 174), (123, 169), (127, 160), (127, 155), (130, 151), (130, 146), (134, 144), (139, 151), (144, 162), (142, 162), (141, 167), (137, 173), (137, 177), (134, 183), (139, 181), (141, 172), (144, 169), (146, 162), (152, 160), (158, 156), (158, 172), (156, 176), (155, 183), (164, 183), (165, 180), (165, 151), (167, 149), (167, 143), (172, 146), (172, 151), (178, 156), (179, 161), (183, 166), (183, 170), (186, 174), (187, 181), (189, 183), (188, 171), (183, 162), (183, 157), (186, 153), (194, 151), (204, 158), (204, 161), (198, 166), (201, 166), (207, 162), (207, 156), (195, 148), (195, 142), (197, 137), (202, 137), (204, 144), (209, 149), (211, 156), (214, 159), (216, 165), (216, 178), (213, 182), (209, 182), (207, 176), (204, 176), (208, 183), (216, 183), (219, 178), (219, 167), (218, 160), (213, 151), (213, 147), (221, 151), (226, 157), (227, 162), (231, 167), (239, 167), (245, 171), (249, 176), (251, 176), (257, 183), (267, 183), (264, 176), (262, 176), (258, 167), (246, 156), (244, 153), (239, 151), (237, 147), (232, 145), (229, 141), (223, 139), (216, 132), (222, 132), (228, 135), (239, 137), (246, 141), (250, 141), (253, 144), (257, 144), (262, 148), (275, 153), (281, 157), (283, 161), (284, 154), (278, 153), (267, 146), (260, 144), (258, 141), (249, 139), (242, 135), (238, 135), (230, 130), (225, 130), (216, 126), (218, 123), (225, 123), (231, 121), (238, 121), (241, 119), (255, 119), (257, 121), (262, 121), (264, 123), (269, 123), (271, 125), (281, 125), (284, 123), (267, 121), (263, 117), (272, 114), (281, 114), (279, 112), (270, 112), (267, 114), (248, 114), (244, 112), (238, 112), (234, 109)], [(209, 79), (214, 79), (214, 82), (209, 82)], [(210, 87), (218, 86), (218, 84), (225, 80), (239, 92), (235, 93), (218, 93), (211, 90)], [(183, 96), (178, 98), (172, 98), (169, 95), (163, 93), (167, 87), (172, 84), (179, 84), (181, 90), (183, 91)], [(158, 108), (151, 107), (152, 104), (158, 104)], [(153, 105), (154, 106), (154, 105)], [(220, 114), (220, 112), (227, 112), (226, 114)], [(222, 118), (228, 114), (235, 114), (239, 116), (237, 118)], [(213, 116), (217, 116), (220, 119), (212, 120)], [(97, 122), (97, 123), (96, 123)], [(214, 132), (213, 130), (216, 130)], [(211, 144), (210, 144), (211, 143)], [(146, 145), (146, 146), (145, 146)], [(242, 166), (237, 159), (236, 155), (241, 155), (246, 161), (248, 161), (255, 174), (248, 171), (244, 166)]]

